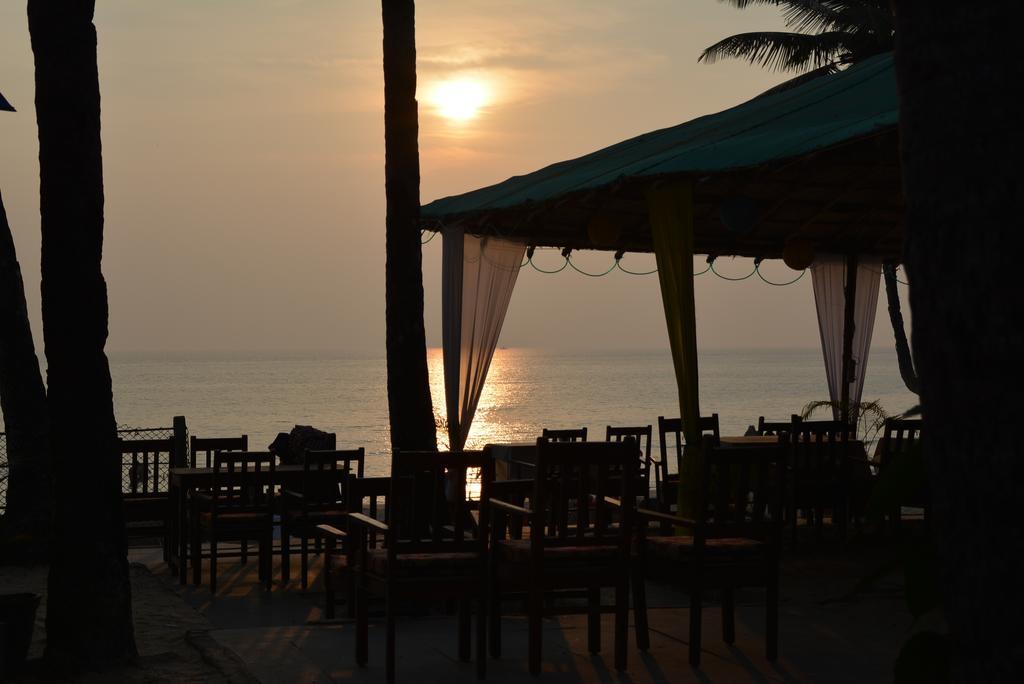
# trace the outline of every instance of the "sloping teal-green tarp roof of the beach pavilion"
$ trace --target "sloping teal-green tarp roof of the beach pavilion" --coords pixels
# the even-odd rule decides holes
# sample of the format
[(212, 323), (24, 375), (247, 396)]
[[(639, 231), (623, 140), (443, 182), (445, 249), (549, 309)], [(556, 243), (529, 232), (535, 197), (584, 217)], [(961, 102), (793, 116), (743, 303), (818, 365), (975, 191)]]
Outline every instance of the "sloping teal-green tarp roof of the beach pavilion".
[(436, 200), (423, 207), (422, 215), (429, 222), (544, 202), (624, 178), (757, 167), (893, 129), (898, 117), (892, 55), (878, 55), (718, 114)]

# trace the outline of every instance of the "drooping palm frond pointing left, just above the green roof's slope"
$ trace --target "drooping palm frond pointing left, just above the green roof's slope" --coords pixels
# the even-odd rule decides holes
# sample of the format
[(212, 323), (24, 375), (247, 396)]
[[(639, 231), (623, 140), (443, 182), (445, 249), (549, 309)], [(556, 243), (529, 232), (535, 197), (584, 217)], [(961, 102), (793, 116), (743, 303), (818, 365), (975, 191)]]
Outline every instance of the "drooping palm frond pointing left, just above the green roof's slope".
[(697, 61), (732, 57), (776, 71), (804, 71), (840, 61), (849, 37), (841, 32), (801, 34), (756, 32), (729, 36), (705, 49)]

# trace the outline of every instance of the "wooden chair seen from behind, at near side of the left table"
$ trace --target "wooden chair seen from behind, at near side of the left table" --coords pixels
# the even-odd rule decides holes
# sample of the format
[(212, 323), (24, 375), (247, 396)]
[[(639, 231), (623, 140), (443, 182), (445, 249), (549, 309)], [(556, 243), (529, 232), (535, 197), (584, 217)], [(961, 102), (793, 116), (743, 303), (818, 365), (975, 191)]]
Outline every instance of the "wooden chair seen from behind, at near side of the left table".
[(195, 498), (193, 584), (202, 581), (203, 538), (210, 542), (210, 592), (217, 591), (217, 545), (259, 540), (259, 579), (270, 590), (273, 552), (274, 456), (269, 452), (216, 452), (209, 500)]

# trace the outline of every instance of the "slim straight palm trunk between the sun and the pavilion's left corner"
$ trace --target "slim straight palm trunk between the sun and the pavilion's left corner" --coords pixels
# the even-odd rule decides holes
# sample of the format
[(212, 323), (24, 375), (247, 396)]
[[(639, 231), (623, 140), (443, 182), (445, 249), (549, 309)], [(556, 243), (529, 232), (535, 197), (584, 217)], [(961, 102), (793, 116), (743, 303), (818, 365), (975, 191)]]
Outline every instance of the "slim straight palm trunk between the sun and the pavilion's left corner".
[(420, 151), (413, 0), (382, 0), (387, 197), (387, 395), (391, 448), (437, 447), (423, 329)]

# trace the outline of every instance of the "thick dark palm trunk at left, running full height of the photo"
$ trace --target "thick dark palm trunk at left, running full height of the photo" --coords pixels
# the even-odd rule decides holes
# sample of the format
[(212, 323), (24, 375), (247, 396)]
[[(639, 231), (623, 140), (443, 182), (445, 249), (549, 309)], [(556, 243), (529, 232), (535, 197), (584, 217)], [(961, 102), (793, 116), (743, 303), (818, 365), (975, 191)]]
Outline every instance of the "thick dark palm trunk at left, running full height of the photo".
[(95, 0), (29, 0), (36, 61), (54, 520), (46, 657), (134, 656), (121, 466), (106, 342)]

